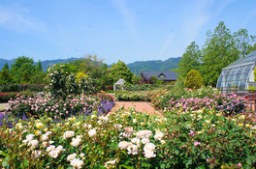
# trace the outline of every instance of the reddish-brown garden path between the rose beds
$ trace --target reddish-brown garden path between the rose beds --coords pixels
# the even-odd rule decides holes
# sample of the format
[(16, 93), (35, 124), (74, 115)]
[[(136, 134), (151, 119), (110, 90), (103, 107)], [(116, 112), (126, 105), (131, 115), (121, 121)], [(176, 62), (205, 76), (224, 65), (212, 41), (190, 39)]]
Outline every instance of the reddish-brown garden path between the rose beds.
[(163, 116), (161, 112), (157, 111), (150, 102), (144, 101), (115, 101), (114, 106), (112, 107), (109, 114), (114, 113), (116, 110), (124, 107), (125, 110), (129, 108), (135, 108), (138, 112), (147, 113), (149, 115), (159, 115)]

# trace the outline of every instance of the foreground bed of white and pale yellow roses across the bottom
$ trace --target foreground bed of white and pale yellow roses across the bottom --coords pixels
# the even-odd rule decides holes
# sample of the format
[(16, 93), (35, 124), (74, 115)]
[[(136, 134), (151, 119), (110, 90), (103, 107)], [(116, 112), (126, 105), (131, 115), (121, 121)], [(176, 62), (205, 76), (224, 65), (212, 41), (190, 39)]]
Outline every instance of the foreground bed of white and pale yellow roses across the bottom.
[(165, 118), (119, 110), (110, 116), (42, 117), (0, 128), (3, 168), (252, 168), (256, 117), (214, 110)]

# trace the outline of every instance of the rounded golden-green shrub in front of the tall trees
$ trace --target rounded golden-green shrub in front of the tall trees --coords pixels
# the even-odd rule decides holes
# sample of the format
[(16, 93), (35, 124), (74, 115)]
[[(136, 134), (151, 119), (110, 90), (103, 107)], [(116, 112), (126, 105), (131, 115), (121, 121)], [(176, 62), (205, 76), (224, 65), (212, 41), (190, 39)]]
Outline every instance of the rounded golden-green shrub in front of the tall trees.
[(190, 70), (185, 78), (185, 87), (199, 89), (204, 85), (203, 77), (198, 70)]

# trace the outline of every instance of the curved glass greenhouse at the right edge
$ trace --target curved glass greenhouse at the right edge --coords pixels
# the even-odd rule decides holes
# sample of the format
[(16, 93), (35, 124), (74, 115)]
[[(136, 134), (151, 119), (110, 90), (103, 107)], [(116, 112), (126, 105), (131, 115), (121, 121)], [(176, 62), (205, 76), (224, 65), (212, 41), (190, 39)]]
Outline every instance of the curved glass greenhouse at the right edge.
[(249, 86), (255, 86), (255, 63), (256, 51), (253, 51), (245, 58), (230, 64), (221, 71), (216, 87), (221, 90), (247, 90)]

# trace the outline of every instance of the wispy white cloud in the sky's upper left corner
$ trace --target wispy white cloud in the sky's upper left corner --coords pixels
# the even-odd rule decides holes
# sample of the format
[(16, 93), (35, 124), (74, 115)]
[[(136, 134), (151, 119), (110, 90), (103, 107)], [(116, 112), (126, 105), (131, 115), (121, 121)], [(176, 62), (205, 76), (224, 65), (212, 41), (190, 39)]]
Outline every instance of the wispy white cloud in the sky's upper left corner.
[(43, 30), (44, 24), (39, 20), (24, 14), (24, 10), (0, 7), (0, 27), (18, 32), (26, 30)]

